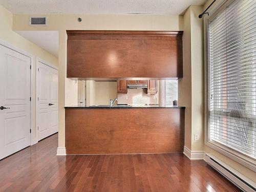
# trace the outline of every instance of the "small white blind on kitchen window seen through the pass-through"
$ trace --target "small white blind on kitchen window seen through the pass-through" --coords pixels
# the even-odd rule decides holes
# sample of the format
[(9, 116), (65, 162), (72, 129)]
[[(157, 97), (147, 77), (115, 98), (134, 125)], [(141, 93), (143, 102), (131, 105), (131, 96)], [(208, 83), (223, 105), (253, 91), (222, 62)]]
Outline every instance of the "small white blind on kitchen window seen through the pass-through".
[(173, 105), (173, 100), (178, 101), (178, 80), (163, 80), (163, 104)]

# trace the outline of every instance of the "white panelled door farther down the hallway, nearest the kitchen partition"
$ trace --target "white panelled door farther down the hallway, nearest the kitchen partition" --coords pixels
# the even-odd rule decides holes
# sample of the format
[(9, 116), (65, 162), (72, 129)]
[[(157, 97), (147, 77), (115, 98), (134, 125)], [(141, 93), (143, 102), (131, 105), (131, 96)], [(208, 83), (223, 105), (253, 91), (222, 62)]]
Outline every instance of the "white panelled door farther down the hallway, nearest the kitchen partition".
[(37, 138), (58, 132), (58, 71), (37, 63)]

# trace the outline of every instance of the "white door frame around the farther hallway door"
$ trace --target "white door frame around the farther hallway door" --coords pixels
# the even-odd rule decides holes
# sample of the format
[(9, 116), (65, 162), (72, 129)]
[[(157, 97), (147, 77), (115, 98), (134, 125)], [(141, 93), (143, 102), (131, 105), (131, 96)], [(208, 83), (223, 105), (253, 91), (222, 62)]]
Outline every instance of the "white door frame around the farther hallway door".
[[(41, 59), (40, 57), (36, 57), (36, 68), (35, 68), (35, 138), (36, 138), (36, 142), (38, 142), (38, 132), (37, 132), (37, 127), (38, 127), (38, 115), (39, 115), (39, 112), (38, 112), (38, 109), (39, 109), (39, 105), (38, 105), (38, 102), (37, 102), (37, 93), (38, 93), (38, 74), (37, 74), (37, 68), (38, 68), (38, 64), (42, 63), (50, 68), (53, 68), (57, 71), (59, 71), (58, 67), (57, 66), (54, 66), (52, 65), (51, 63), (45, 61), (44, 59)], [(59, 100), (58, 100), (59, 102)]]

